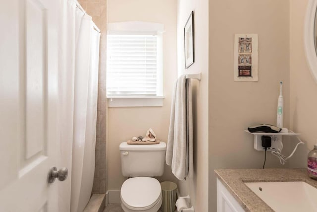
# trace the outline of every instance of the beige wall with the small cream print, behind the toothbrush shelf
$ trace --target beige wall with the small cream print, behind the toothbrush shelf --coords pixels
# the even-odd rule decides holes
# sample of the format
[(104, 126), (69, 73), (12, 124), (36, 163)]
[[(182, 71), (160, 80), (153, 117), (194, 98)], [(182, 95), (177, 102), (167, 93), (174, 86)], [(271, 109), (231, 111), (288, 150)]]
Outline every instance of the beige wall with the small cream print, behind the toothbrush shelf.
[[(233, 81), (236, 33), (259, 36), (257, 82)], [(262, 168), (264, 152), (253, 148), (253, 136), (244, 130), (254, 124), (276, 123), (279, 80), (284, 87), (284, 126), (289, 128), (289, 68), (288, 0), (209, 1), (210, 212), (216, 211), (214, 169)], [(267, 154), (265, 167), (281, 165)]]

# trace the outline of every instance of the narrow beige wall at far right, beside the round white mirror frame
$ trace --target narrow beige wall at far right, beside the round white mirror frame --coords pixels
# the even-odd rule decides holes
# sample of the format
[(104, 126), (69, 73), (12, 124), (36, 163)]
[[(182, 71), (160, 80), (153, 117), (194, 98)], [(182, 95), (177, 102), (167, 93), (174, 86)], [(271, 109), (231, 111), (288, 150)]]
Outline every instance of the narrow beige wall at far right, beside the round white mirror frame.
[(308, 0), (290, 1), (290, 125), (306, 143), (291, 158), (291, 167), (307, 167), (307, 153), (317, 143), (317, 84), (306, 62), (303, 38), (307, 3)]

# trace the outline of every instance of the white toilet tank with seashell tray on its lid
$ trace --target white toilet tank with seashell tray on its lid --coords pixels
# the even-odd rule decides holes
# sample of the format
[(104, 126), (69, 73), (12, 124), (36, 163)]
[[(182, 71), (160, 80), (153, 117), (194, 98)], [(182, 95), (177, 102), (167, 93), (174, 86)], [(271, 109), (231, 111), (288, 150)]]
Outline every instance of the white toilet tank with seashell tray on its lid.
[(124, 177), (158, 177), (164, 172), (166, 143), (127, 144), (119, 146)]

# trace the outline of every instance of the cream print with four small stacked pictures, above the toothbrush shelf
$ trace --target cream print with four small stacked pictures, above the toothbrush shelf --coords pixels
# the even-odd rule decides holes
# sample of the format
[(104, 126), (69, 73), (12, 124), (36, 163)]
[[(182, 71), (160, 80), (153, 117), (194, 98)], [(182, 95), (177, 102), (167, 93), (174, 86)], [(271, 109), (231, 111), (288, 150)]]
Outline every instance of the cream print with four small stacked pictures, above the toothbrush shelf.
[(234, 35), (234, 81), (258, 81), (258, 34)]

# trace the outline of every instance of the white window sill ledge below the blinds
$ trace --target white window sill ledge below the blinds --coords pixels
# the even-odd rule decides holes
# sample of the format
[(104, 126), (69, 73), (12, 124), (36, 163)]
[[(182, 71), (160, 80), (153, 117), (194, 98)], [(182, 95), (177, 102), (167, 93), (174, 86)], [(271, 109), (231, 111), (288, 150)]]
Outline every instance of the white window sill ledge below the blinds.
[(164, 96), (107, 96), (108, 107), (162, 107)]

